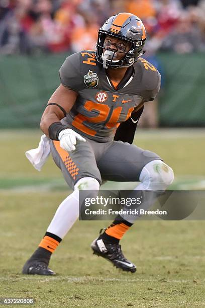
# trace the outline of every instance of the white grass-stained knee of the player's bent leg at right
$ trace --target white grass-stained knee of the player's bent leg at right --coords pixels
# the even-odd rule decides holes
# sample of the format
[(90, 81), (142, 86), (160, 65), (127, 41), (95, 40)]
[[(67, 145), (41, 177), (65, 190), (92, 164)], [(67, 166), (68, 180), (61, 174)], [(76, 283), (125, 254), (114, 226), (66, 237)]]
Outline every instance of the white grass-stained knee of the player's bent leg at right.
[(150, 190), (165, 190), (173, 180), (173, 170), (160, 160), (149, 162), (140, 174), (140, 181)]

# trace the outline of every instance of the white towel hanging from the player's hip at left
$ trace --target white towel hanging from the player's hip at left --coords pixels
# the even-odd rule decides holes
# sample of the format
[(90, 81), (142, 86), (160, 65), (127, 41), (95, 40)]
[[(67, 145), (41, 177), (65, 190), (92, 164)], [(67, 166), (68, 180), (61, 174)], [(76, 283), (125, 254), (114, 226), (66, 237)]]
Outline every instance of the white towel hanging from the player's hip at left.
[(41, 168), (47, 161), (51, 152), (50, 139), (44, 134), (41, 136), (39, 146), (26, 151), (26, 157), (34, 166), (35, 169), (41, 171)]

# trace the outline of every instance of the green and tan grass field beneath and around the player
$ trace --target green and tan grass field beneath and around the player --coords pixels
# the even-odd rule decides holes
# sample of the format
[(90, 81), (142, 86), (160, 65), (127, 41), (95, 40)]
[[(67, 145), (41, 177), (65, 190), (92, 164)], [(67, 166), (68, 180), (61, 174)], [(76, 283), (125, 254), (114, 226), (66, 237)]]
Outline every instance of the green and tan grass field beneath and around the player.
[[(202, 190), (204, 131), (139, 130), (135, 143), (173, 168), (173, 189)], [(109, 221), (77, 221), (52, 257), (55, 277), (21, 274), (70, 192), (51, 158), (40, 173), (26, 159), (24, 152), (38, 145), (40, 134), (0, 131), (0, 297), (33, 297), (35, 307), (205, 307), (204, 221), (136, 222), (122, 240), (135, 274), (91, 253), (90, 243)], [(109, 182), (104, 189), (134, 186)]]

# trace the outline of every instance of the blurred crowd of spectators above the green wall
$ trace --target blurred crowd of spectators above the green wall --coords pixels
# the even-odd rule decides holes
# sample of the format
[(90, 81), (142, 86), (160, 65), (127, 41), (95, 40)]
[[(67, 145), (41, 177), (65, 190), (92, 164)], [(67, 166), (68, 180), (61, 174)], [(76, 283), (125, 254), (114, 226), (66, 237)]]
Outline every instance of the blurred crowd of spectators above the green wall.
[[(0, 0), (0, 53), (93, 49), (97, 28), (112, 14), (126, 11), (143, 20), (146, 49), (204, 50), (205, 0)], [(189, 42), (188, 24), (193, 26)], [(196, 46), (194, 35), (201, 44)], [(181, 39), (186, 47), (178, 48)]]

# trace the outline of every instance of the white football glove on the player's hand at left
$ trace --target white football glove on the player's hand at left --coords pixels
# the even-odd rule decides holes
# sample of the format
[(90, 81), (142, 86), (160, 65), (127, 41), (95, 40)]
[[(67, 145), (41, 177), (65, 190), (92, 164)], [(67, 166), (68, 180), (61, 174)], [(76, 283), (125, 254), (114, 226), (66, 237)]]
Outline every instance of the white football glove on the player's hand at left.
[(80, 140), (83, 142), (86, 141), (85, 138), (80, 136), (71, 128), (61, 130), (58, 135), (58, 140), (60, 141), (60, 146), (67, 152), (75, 150), (75, 144), (77, 142), (76, 140)]

